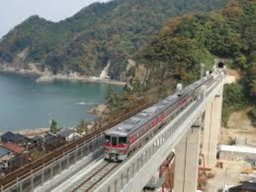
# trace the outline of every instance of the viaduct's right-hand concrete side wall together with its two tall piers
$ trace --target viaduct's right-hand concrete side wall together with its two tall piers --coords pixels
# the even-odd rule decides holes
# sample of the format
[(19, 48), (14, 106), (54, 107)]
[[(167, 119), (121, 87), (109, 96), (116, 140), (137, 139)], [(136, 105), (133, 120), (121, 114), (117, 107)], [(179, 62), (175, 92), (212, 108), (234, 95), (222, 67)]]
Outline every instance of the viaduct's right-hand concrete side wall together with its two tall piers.
[[(225, 79), (205, 91), (203, 99), (185, 109), (139, 153), (113, 173), (97, 192), (139, 192), (175, 150), (174, 192), (197, 190), (200, 140), (206, 167), (216, 165), (217, 132), (221, 128)], [(201, 134), (203, 130), (203, 134)], [(203, 135), (203, 138), (201, 138)]]

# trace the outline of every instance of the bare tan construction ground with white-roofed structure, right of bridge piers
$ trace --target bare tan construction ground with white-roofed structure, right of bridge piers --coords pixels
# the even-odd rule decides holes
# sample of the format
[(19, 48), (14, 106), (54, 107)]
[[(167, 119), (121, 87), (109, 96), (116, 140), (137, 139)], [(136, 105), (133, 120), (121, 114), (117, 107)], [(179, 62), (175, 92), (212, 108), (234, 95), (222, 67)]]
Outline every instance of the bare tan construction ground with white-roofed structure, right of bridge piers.
[[(252, 182), (256, 178), (256, 128), (246, 113), (233, 113), (228, 128), (219, 131), (217, 165), (200, 168), (199, 172), (199, 189), (204, 192), (256, 191), (256, 183)], [(248, 188), (247, 183), (253, 187)]]

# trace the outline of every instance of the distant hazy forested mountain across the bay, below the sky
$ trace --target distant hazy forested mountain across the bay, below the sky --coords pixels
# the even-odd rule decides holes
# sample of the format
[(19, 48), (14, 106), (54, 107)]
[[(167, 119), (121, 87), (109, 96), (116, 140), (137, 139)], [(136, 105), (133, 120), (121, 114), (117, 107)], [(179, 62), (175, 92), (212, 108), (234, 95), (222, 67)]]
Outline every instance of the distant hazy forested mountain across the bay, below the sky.
[(31, 16), (1, 39), (0, 63), (98, 75), (110, 62), (111, 78), (120, 79), (128, 58), (171, 17), (213, 10), (223, 2), (113, 0), (93, 3), (58, 23)]

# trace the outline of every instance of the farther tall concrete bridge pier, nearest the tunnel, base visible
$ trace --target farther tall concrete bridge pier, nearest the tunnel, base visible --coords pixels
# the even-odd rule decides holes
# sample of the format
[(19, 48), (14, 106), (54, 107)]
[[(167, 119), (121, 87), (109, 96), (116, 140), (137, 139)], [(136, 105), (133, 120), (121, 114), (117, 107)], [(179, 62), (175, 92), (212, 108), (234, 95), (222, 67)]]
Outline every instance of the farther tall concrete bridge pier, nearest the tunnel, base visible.
[(213, 101), (206, 104), (204, 116), (204, 138), (202, 152), (205, 166), (214, 167), (217, 156), (217, 133), (221, 129), (222, 90)]

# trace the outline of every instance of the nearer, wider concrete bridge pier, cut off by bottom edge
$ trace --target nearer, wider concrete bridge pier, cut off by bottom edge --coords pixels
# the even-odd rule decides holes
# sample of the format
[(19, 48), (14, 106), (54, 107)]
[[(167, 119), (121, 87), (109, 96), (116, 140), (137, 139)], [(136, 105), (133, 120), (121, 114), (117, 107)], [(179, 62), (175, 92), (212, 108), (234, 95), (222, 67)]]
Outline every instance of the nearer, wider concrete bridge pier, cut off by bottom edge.
[(192, 127), (175, 148), (174, 192), (197, 190), (199, 149), (200, 127)]

